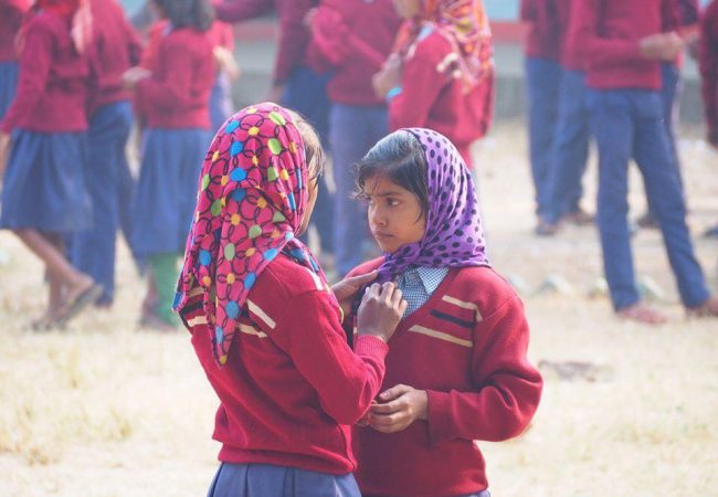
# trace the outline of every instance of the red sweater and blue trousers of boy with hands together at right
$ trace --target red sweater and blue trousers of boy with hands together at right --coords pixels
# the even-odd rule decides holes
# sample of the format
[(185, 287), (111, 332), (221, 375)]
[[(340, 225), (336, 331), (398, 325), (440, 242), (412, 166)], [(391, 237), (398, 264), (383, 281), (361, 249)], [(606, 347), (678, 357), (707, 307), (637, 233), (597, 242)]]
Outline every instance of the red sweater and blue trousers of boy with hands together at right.
[(643, 175), (683, 304), (699, 306), (709, 294), (686, 225), (664, 123), (661, 63), (640, 52), (642, 38), (676, 28), (673, 1), (590, 0), (574, 8), (569, 43), (588, 64), (588, 105), (599, 148), (598, 224), (613, 306), (620, 310), (640, 300), (627, 223), (632, 158)]

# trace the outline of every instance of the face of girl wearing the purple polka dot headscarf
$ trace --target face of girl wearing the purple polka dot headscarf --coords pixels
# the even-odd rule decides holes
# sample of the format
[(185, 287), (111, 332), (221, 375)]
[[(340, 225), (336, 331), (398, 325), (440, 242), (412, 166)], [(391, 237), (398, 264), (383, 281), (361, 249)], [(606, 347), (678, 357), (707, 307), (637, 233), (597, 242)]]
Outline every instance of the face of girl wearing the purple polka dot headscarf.
[(397, 252), (409, 243), (420, 242), (426, 230), (419, 198), (389, 178), (377, 175), (365, 186), (369, 201), (369, 228), (384, 252)]

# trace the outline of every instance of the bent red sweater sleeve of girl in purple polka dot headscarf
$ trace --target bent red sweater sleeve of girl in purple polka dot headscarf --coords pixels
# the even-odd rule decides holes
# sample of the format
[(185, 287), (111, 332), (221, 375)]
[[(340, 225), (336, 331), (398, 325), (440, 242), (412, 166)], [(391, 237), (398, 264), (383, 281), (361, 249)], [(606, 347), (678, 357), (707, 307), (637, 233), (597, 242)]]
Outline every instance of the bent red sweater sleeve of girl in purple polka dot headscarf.
[(542, 380), (528, 362), (524, 307), (511, 296), (474, 332), (476, 391), (429, 391), (432, 444), (453, 438), (499, 442), (520, 434), (541, 396)]

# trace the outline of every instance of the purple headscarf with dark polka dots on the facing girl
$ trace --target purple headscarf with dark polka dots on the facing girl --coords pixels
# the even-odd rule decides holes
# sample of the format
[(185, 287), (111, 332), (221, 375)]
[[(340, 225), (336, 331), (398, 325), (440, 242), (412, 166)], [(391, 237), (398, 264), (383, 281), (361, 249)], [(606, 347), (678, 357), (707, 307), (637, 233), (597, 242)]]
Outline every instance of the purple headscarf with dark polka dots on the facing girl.
[(387, 254), (378, 279), (390, 281), (409, 266), (488, 266), (476, 189), (456, 147), (431, 129), (405, 128), (394, 133), (410, 133), (424, 149), (429, 213), (424, 237)]

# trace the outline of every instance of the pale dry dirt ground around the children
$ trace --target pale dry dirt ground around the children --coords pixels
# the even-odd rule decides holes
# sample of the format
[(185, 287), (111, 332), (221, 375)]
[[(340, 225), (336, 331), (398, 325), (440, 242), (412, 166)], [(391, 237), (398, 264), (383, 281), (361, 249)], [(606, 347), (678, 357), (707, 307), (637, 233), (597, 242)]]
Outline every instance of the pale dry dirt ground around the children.
[[(684, 130), (680, 141), (696, 248), (714, 290), (718, 155)], [(525, 299), (543, 399), (519, 438), (483, 443), (497, 497), (718, 496), (718, 320), (688, 320), (661, 236), (641, 231), (635, 264), (671, 324), (619, 321), (600, 282), (592, 228), (532, 235), (525, 134), (499, 125), (476, 148), (495, 267)], [(635, 170), (635, 168), (634, 168)], [(595, 163), (584, 180), (593, 210)], [(637, 173), (632, 215), (644, 210)], [(217, 400), (189, 336), (137, 328), (144, 283), (120, 246), (112, 310), (65, 331), (29, 321), (45, 295), (38, 261), (0, 233), (0, 495), (200, 496), (217, 466)], [(577, 364), (566, 366), (566, 361)]]

